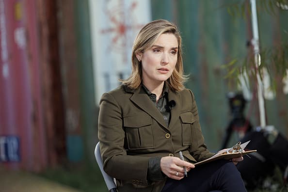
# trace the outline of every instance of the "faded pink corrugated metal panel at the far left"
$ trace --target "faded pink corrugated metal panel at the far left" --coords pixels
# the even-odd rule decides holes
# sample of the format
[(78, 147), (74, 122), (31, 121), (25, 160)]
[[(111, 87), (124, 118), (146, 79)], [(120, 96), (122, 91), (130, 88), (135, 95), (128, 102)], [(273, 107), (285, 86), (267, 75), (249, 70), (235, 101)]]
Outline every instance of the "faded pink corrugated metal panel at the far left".
[[(20, 155), (18, 162), (7, 161), (5, 164), (13, 169), (38, 171), (46, 165), (46, 156), (33, 14), (35, 6), (31, 0), (1, 0), (0, 10), (3, 45), (0, 135), (19, 138)], [(5, 51), (8, 56), (5, 56)]]

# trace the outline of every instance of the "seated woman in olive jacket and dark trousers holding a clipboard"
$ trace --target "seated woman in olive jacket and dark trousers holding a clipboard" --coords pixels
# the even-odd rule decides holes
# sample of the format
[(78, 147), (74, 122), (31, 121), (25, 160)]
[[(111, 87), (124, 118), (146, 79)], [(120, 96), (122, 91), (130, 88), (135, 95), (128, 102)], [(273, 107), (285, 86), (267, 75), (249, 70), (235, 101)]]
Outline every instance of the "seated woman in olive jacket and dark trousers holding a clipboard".
[(167, 20), (146, 24), (134, 41), (131, 76), (100, 100), (101, 156), (119, 192), (246, 191), (231, 161), (193, 165), (213, 153), (204, 143), (185, 80), (176, 25)]

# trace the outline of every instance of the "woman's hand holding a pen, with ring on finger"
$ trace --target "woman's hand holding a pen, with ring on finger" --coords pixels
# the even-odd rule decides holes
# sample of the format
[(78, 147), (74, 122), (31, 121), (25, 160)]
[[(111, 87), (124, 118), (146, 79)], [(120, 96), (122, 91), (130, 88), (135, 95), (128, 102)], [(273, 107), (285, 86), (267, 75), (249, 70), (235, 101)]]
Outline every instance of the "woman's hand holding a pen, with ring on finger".
[(185, 174), (183, 167), (186, 167), (187, 172), (193, 169), (195, 166), (187, 161), (180, 160), (177, 157), (162, 157), (160, 161), (161, 171), (168, 177), (180, 180)]

